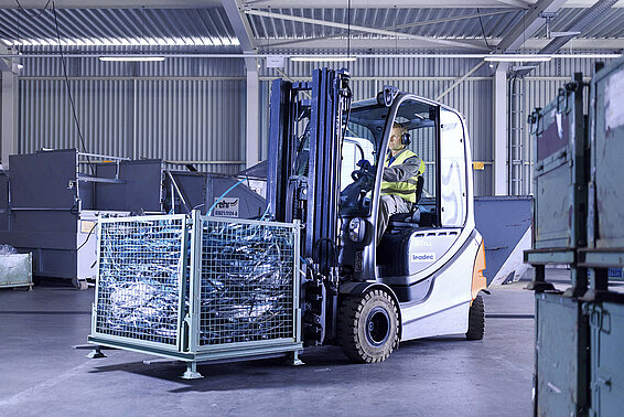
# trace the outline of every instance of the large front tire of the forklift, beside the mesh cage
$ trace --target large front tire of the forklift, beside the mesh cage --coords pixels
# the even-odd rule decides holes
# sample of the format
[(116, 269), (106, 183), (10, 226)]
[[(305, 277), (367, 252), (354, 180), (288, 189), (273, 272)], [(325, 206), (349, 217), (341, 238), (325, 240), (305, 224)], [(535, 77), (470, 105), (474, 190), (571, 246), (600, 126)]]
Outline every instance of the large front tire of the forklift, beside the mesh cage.
[(395, 301), (381, 290), (345, 298), (338, 310), (337, 335), (343, 352), (352, 361), (385, 361), (399, 340)]

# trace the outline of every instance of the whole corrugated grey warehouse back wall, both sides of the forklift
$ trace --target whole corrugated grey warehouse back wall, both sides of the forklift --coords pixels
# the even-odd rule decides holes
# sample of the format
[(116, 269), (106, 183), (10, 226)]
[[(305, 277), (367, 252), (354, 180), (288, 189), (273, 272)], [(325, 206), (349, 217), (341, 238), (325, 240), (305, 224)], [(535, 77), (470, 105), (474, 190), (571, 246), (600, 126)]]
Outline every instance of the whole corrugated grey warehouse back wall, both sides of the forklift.
[[(455, 58), (359, 58), (348, 63), (356, 99), (373, 97), (385, 84), (435, 98), (478, 63)], [(103, 63), (68, 58), (76, 114), (90, 152), (129, 158), (202, 160), (203, 169), (236, 172), (245, 156), (245, 66), (241, 60), (168, 58), (162, 63)], [(313, 68), (336, 63), (297, 63), (267, 68), (260, 60), (260, 160), (268, 154), (270, 79), (310, 77)], [(589, 60), (541, 64), (523, 83), (523, 120), (535, 106), (550, 101), (575, 71), (592, 73)], [(475, 194), (492, 193), (492, 70), (482, 66), (442, 103), (465, 115), (475, 161)], [(61, 60), (25, 60), (20, 81), (20, 152), (77, 147), (79, 138), (68, 105)], [(524, 125), (526, 128), (526, 125)], [(525, 129), (526, 130), (526, 129)], [(528, 133), (524, 135), (525, 183), (530, 183)], [(527, 190), (529, 190), (527, 185)], [(528, 192), (527, 191), (527, 192)]]

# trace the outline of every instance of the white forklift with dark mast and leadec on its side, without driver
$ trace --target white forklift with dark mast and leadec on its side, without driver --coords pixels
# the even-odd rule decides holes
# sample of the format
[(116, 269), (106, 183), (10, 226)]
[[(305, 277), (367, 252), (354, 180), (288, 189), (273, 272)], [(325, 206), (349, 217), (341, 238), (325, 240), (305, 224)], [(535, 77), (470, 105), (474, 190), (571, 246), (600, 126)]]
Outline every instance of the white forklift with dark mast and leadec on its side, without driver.
[[(272, 83), (267, 215), (301, 224), (304, 344), (337, 344), (351, 360), (374, 363), (399, 341), (483, 339), (485, 248), (464, 118), (390, 86), (352, 98), (346, 70)], [(395, 124), (426, 170), (417, 203), (392, 215), (377, 242)]]

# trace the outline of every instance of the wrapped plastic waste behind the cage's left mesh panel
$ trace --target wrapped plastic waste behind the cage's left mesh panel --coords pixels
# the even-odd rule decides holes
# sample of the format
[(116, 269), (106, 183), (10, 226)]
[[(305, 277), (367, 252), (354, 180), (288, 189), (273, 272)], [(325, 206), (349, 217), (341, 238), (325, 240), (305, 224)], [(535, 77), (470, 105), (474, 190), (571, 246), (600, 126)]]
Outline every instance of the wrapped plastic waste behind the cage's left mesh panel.
[(174, 344), (186, 231), (180, 220), (103, 223), (98, 331)]

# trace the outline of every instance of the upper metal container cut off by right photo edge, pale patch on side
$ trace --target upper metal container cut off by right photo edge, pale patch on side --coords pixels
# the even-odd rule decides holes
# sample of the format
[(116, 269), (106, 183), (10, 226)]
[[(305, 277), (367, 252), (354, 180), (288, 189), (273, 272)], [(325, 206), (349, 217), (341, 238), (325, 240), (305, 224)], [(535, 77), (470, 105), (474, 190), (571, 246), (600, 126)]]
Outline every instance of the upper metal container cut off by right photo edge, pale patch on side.
[(624, 58), (592, 78), (590, 106), (590, 238), (596, 248), (624, 248)]

